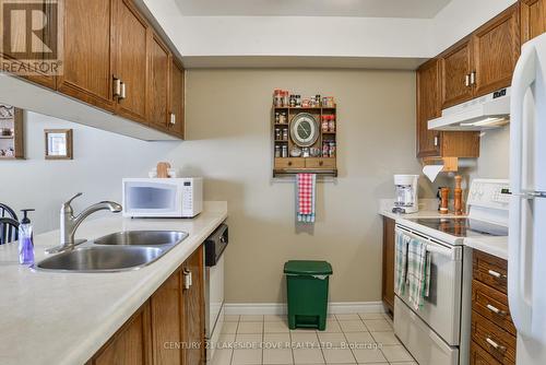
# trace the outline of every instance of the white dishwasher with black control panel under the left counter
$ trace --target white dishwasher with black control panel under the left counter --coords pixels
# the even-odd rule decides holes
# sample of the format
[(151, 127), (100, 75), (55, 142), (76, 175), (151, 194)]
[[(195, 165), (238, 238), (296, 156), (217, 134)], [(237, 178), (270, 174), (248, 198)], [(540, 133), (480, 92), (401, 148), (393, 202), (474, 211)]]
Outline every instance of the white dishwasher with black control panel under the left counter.
[(224, 326), (224, 251), (228, 244), (228, 228), (221, 224), (204, 242), (205, 251), (205, 340), (206, 362), (214, 355)]

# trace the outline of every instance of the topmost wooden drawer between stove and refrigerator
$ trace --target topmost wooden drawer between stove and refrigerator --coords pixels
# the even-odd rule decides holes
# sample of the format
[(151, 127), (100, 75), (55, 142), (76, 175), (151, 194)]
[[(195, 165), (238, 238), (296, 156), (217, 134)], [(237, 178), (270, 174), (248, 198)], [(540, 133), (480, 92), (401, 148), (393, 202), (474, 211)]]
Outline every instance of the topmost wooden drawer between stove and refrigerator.
[(506, 260), (474, 250), (473, 276), (475, 280), (507, 294), (507, 267)]

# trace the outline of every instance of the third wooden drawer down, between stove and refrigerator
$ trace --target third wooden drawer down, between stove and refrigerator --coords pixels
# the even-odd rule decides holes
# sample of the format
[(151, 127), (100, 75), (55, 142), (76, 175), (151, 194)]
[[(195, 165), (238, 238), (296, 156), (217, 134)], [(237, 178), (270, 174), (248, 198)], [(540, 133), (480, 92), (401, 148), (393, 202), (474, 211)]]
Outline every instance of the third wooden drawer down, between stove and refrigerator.
[(515, 364), (515, 337), (472, 311), (472, 341), (501, 364)]

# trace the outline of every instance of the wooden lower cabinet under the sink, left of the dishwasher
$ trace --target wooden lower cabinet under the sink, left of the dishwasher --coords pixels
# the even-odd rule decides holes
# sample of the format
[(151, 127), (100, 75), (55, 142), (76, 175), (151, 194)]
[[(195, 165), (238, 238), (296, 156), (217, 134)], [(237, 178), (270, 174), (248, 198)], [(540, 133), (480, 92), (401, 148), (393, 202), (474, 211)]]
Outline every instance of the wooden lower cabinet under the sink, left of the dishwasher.
[(202, 365), (203, 247), (200, 246), (87, 365)]

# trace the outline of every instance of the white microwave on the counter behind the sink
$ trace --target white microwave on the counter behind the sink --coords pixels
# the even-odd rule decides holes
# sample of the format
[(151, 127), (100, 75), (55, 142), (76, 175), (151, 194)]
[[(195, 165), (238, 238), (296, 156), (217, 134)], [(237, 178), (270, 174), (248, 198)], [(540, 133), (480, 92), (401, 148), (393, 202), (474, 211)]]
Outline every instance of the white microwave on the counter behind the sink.
[(123, 216), (193, 217), (203, 210), (203, 178), (126, 178)]

